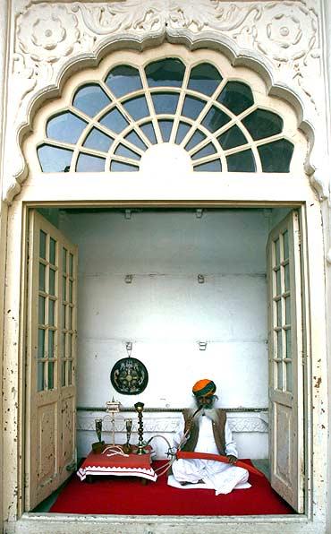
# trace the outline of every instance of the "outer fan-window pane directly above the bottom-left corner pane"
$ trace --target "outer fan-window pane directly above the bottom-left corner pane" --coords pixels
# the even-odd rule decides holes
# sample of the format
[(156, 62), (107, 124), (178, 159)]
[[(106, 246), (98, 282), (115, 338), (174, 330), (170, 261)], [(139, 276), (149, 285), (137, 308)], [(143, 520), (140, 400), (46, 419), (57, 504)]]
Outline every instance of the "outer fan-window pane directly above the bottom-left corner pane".
[(46, 134), (50, 139), (75, 144), (87, 124), (71, 111), (64, 111), (48, 120)]

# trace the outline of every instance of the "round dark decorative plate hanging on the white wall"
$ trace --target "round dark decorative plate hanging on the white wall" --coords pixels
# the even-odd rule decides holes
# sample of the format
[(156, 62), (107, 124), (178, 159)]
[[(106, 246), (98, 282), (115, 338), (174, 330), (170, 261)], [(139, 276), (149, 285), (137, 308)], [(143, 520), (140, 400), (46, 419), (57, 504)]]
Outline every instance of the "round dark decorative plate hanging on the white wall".
[(123, 395), (139, 395), (149, 383), (149, 373), (139, 359), (123, 357), (111, 370), (110, 380), (116, 392)]

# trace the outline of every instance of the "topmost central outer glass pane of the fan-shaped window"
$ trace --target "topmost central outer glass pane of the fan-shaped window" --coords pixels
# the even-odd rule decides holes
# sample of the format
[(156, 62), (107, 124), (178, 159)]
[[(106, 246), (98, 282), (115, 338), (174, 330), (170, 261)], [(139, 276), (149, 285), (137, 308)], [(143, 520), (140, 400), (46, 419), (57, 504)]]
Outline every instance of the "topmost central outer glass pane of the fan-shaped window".
[(185, 65), (174, 58), (155, 61), (145, 67), (149, 87), (182, 87)]

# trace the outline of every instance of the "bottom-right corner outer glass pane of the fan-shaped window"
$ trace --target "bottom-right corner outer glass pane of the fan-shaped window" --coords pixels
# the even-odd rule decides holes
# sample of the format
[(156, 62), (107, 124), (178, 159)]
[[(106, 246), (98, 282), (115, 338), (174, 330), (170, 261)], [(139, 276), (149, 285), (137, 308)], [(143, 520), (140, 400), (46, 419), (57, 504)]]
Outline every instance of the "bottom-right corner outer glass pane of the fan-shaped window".
[(293, 150), (293, 142), (286, 139), (259, 146), (259, 159), (263, 172), (289, 172)]

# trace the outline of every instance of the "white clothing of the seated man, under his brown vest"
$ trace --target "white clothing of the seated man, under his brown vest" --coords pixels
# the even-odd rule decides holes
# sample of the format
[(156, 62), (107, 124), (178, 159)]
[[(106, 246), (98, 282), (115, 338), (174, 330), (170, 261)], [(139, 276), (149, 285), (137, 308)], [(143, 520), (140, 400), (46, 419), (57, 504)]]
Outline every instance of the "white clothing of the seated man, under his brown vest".
[[(174, 446), (180, 444), (183, 430), (184, 419), (182, 418), (182, 427), (174, 436)], [(199, 439), (195, 451), (218, 454), (212, 421), (206, 415), (199, 417)], [(227, 423), (225, 423), (225, 454), (238, 456), (236, 445), (233, 442), (232, 432)], [(168, 484), (175, 487), (185, 489), (192, 487), (213, 488), (215, 489), (216, 495), (230, 493), (233, 489), (250, 487), (250, 484), (247, 482), (249, 478), (247, 469), (235, 467), (221, 461), (180, 459), (174, 461), (172, 468), (174, 476), (169, 477)], [(200, 480), (202, 480), (202, 483), (199, 483)], [(181, 482), (190, 482), (191, 484), (181, 486)]]

